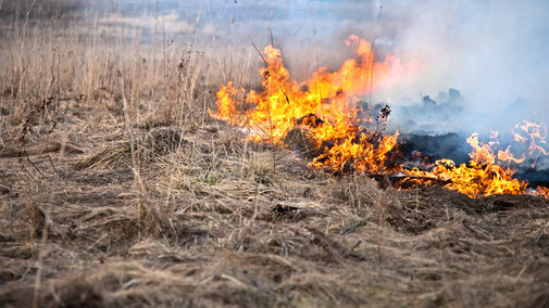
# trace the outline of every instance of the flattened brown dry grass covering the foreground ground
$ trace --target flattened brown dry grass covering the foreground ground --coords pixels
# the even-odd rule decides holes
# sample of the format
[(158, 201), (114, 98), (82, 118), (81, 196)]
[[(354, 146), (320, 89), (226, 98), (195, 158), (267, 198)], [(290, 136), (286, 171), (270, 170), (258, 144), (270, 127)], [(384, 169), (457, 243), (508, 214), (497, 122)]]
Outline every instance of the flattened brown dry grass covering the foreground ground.
[(0, 306), (549, 305), (547, 200), (380, 189), (212, 120), (58, 103), (2, 131)]

